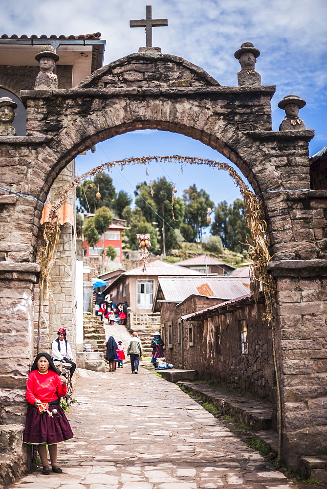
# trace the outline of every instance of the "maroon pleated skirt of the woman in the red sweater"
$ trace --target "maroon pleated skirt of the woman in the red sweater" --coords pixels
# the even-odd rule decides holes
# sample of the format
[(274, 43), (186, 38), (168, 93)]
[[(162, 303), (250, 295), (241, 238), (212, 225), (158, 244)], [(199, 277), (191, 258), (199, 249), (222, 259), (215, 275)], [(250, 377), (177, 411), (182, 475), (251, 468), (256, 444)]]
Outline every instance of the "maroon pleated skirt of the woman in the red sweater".
[(48, 416), (46, 412), (39, 414), (35, 406), (28, 404), (24, 443), (51, 445), (73, 438), (73, 432), (62, 408), (59, 405), (48, 407), (49, 411), (53, 409), (57, 409), (58, 413)]

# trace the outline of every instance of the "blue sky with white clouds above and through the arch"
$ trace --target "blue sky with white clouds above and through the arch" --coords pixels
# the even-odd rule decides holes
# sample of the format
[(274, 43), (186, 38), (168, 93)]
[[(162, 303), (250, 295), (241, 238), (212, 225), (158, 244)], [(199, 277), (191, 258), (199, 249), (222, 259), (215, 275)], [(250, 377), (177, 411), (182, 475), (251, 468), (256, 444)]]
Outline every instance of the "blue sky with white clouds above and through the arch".
[[(153, 45), (203, 67), (221, 85), (237, 85), (239, 63), (234, 52), (241, 43), (251, 41), (261, 51), (256, 69), (262, 84), (276, 85), (273, 129), (278, 130), (284, 116), (277, 103), (294, 93), (306, 100), (300, 116), (306, 127), (316, 132), (310, 154), (327, 145), (326, 0), (16, 0), (2, 10), (0, 30), (8, 35), (100, 31), (107, 41), (108, 64), (145, 45), (144, 29), (130, 29), (129, 20), (145, 17), (145, 5), (150, 3), (153, 18), (168, 18), (169, 24), (153, 29)], [(82, 173), (108, 159), (153, 153), (224, 160), (216, 151), (185, 136), (145, 131), (101, 143), (95, 154), (78, 157), (77, 171)], [(174, 165), (165, 167), (172, 180), (178, 170)], [(186, 167), (179, 174), (178, 190), (196, 182), (216, 202), (233, 201), (238, 194), (233, 183), (227, 176), (217, 177), (217, 170), (213, 175), (213, 171)], [(151, 165), (149, 174), (156, 178), (164, 172)], [(145, 173), (143, 167), (134, 167), (122, 174), (113, 171), (113, 177), (118, 190), (131, 191), (137, 181), (145, 179)]]

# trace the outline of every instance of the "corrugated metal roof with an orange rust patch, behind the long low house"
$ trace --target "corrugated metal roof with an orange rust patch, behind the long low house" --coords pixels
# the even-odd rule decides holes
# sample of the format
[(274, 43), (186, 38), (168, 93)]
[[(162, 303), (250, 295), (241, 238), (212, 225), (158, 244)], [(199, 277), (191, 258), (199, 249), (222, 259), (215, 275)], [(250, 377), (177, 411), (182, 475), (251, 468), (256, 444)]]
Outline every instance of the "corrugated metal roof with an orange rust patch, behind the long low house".
[(164, 300), (182, 302), (190, 295), (235, 299), (249, 293), (250, 279), (238, 277), (158, 277)]

